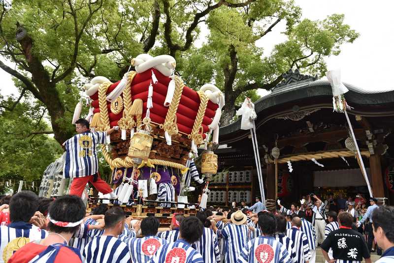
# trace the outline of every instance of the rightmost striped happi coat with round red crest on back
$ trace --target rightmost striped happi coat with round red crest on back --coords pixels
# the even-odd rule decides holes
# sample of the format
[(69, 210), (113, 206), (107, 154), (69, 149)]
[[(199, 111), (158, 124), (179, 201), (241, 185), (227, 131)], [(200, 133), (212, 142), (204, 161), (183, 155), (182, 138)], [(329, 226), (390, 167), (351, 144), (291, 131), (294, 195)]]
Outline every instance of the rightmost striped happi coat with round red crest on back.
[(271, 236), (250, 240), (236, 263), (292, 263), (286, 247)]

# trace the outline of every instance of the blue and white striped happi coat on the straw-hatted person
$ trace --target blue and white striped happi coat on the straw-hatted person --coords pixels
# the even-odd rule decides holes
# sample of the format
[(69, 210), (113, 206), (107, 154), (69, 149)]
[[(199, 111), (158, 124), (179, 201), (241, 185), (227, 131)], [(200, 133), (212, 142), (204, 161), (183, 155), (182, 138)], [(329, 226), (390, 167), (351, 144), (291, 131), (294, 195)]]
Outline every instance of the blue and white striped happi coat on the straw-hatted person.
[(225, 263), (235, 263), (241, 250), (249, 241), (249, 228), (247, 225), (227, 224), (223, 230), (216, 232), (219, 238), (225, 240)]

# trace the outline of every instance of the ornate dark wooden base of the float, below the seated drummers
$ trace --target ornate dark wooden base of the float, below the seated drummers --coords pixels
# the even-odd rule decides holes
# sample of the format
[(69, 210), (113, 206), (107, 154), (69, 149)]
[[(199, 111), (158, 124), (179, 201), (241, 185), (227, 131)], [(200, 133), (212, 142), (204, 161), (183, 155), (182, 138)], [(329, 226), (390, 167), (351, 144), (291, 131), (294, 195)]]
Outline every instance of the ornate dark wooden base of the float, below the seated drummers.
[[(94, 210), (96, 207), (102, 204), (103, 199), (93, 198), (92, 201), (89, 202), (88, 210), (89, 212)], [(146, 200), (150, 201), (150, 200)], [(156, 201), (151, 201), (152, 203), (156, 203)], [(177, 204), (175, 202), (171, 202), (171, 204)], [(178, 203), (183, 204), (183, 203)], [(171, 225), (171, 218), (173, 213), (183, 214), (185, 217), (195, 216), (198, 212), (198, 208), (178, 208), (178, 207), (170, 207), (163, 208), (159, 206), (152, 205), (114, 205), (112, 203), (106, 204), (108, 208), (112, 208), (118, 206), (122, 208), (127, 216), (132, 216), (134, 219), (143, 219), (149, 216), (154, 216), (160, 221), (160, 226), (165, 227)], [(191, 204), (192, 205), (192, 204)], [(197, 205), (197, 204), (195, 204)]]

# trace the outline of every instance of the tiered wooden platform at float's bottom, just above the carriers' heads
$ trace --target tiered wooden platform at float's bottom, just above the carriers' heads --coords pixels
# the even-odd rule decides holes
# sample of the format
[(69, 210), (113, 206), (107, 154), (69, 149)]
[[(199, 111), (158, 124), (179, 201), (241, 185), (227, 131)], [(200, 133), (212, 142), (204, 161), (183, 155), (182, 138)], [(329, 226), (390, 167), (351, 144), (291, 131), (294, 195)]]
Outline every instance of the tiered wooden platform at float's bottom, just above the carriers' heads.
[[(103, 204), (104, 200), (109, 201), (109, 203), (106, 204), (108, 208), (118, 206), (125, 211), (127, 216), (132, 216), (134, 219), (144, 219), (149, 216), (154, 216), (159, 219), (160, 227), (168, 227), (171, 224), (171, 218), (174, 213), (183, 214), (185, 217), (188, 217), (195, 216), (199, 211), (198, 204), (194, 203), (143, 200), (144, 203), (142, 205), (116, 205), (113, 204), (114, 200), (91, 197), (88, 202), (87, 212), (91, 212), (96, 207)], [(135, 201), (137, 200), (135, 199)], [(171, 207), (161, 207), (159, 206), (161, 203), (171, 204)], [(179, 205), (185, 206), (185, 208), (179, 208)], [(196, 208), (188, 208), (188, 206), (194, 206)]]

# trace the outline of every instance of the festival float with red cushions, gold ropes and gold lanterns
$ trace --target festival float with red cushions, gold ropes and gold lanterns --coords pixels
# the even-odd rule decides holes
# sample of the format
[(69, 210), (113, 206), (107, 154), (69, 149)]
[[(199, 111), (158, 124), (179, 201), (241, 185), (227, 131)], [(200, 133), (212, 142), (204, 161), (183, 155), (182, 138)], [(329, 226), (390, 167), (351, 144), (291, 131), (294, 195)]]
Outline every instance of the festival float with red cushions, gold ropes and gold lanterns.
[[(206, 206), (207, 186), (217, 172), (217, 155), (210, 149), (218, 144), (224, 96), (212, 84), (198, 91), (186, 86), (174, 74), (176, 62), (168, 55), (141, 54), (131, 66), (135, 71), (115, 83), (96, 76), (85, 85), (91, 130), (119, 126), (101, 147), (118, 200), (90, 198), (89, 205), (120, 205), (134, 217), (154, 215), (169, 225), (172, 213), (192, 215)], [(73, 121), (81, 106), (78, 103)], [(194, 165), (197, 148), (206, 149), (200, 157), (207, 183), (200, 203), (188, 203), (183, 193), (192, 190), (191, 177), (203, 183)]]

